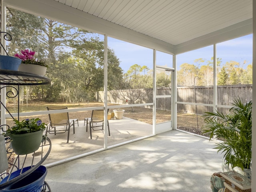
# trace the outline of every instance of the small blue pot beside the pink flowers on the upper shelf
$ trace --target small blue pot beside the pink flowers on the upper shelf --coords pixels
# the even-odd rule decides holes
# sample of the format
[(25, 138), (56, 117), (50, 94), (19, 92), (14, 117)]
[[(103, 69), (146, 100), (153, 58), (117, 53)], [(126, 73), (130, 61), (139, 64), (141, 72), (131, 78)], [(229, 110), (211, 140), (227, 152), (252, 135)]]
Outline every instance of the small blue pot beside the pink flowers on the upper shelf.
[(21, 59), (6, 55), (0, 55), (0, 69), (14, 70), (17, 71)]

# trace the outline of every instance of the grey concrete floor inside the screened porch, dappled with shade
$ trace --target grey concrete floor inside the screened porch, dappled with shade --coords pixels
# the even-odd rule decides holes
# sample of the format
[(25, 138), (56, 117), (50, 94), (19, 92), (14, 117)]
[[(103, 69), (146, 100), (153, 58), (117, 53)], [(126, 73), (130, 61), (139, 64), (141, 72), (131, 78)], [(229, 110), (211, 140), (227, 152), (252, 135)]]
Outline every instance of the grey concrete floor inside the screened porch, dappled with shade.
[(49, 167), (52, 192), (211, 192), (221, 171), (214, 142), (179, 131)]

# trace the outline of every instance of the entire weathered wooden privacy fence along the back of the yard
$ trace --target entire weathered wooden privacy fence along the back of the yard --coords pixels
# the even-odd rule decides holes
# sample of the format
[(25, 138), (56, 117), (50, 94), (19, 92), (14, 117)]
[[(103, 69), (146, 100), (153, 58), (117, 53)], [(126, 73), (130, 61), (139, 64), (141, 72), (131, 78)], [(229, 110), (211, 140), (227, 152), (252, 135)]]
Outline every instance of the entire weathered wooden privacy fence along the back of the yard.
[[(136, 100), (134, 104), (139, 103), (151, 103), (152, 90), (146, 90), (149, 94)], [(156, 90), (157, 95), (171, 95), (170, 88), (159, 88)], [(108, 91), (108, 102), (115, 104), (130, 104), (126, 100), (120, 100), (117, 97), (118, 91)], [(96, 96), (99, 102), (104, 101), (104, 92), (98, 92)], [(230, 106), (232, 101), (240, 97), (243, 102), (252, 100), (252, 84), (250, 85), (226, 85), (217, 86), (217, 105)], [(177, 87), (177, 101), (189, 102), (192, 104), (177, 104), (177, 112), (181, 113), (196, 113), (204, 114), (204, 112), (212, 112), (213, 108), (209, 106), (201, 106), (200, 104), (213, 104), (213, 86), (196, 86), (195, 87)], [(196, 105), (196, 103), (198, 105)], [(171, 110), (170, 98), (158, 98), (156, 102), (156, 108), (161, 110)], [(218, 108), (220, 112), (227, 112), (228, 108)]]

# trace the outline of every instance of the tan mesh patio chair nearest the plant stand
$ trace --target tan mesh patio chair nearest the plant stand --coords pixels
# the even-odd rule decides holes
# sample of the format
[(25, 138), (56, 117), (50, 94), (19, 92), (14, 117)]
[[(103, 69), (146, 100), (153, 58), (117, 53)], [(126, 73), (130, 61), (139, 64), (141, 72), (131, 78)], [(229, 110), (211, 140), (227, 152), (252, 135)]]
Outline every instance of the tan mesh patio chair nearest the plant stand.
[[(46, 107), (48, 111), (50, 110), (62, 110), (62, 109), (68, 109), (67, 107), (63, 106), (52, 106), (52, 107)], [(68, 131), (68, 139), (67, 143), (69, 141), (69, 133), (70, 133), (70, 127), (73, 126), (73, 132), (75, 133), (75, 122), (78, 126), (78, 119), (70, 119), (68, 116), (68, 112), (61, 112), (61, 113), (53, 113), (48, 114), (50, 123), (47, 125), (46, 128), (46, 134), (58, 134), (58, 133), (65, 133)]]

